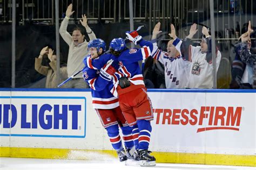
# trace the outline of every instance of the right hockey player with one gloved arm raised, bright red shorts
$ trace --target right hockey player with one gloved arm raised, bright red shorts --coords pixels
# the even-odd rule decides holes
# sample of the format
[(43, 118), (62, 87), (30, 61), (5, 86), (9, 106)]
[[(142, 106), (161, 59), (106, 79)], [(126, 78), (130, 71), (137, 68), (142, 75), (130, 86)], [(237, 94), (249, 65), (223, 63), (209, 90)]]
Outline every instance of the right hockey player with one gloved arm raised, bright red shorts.
[(155, 166), (156, 159), (148, 151), (153, 119), (152, 106), (147, 96), (142, 70), (138, 61), (150, 56), (153, 45), (138, 35), (137, 31), (126, 32), (127, 38), (142, 48), (126, 48), (122, 38), (113, 39), (110, 52), (117, 56), (119, 69), (112, 75), (114, 86), (111, 89), (118, 96), (120, 108), (130, 126), (138, 126), (138, 154), (141, 166)]

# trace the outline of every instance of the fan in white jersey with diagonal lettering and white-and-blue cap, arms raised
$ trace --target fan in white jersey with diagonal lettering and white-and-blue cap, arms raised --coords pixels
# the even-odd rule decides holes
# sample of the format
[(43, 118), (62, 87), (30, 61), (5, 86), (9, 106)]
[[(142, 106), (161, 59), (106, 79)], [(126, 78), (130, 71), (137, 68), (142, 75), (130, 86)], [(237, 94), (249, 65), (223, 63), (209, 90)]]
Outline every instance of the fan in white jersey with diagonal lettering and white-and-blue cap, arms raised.
[(156, 24), (152, 32), (153, 53), (152, 57), (165, 67), (165, 85), (167, 89), (183, 89), (188, 80), (188, 72), (190, 69), (190, 61), (185, 60), (181, 56), (180, 45), (182, 41), (176, 36), (176, 30), (171, 24), (171, 33), (169, 36), (173, 38), (167, 44), (167, 52), (161, 51), (157, 47), (156, 37), (161, 31), (160, 22)]

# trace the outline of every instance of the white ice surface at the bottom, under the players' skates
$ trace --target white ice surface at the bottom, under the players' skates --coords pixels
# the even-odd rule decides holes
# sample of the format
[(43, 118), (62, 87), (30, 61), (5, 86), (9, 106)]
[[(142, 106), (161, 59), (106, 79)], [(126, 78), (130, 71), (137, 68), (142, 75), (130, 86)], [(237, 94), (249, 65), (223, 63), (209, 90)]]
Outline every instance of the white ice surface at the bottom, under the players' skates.
[[(82, 153), (81, 153), (82, 154)], [(91, 156), (91, 155), (87, 155)], [(93, 157), (96, 155), (92, 155)], [(98, 155), (99, 156), (99, 155)], [(101, 155), (102, 156), (102, 155)], [(104, 157), (104, 156), (103, 156)], [(125, 165), (126, 164), (126, 165)], [(255, 167), (241, 167), (241, 166), (219, 166), (219, 165), (193, 165), (193, 164), (163, 164), (157, 163), (156, 167), (140, 167), (136, 165), (134, 161), (119, 162), (117, 158), (107, 158), (102, 161), (89, 161), (89, 160), (64, 160), (64, 159), (30, 159), (30, 158), (1, 158), (0, 157), (0, 169), (1, 170), (35, 170), (35, 169), (111, 169), (111, 170), (137, 170), (137, 169), (180, 169), (180, 170), (251, 170)]]

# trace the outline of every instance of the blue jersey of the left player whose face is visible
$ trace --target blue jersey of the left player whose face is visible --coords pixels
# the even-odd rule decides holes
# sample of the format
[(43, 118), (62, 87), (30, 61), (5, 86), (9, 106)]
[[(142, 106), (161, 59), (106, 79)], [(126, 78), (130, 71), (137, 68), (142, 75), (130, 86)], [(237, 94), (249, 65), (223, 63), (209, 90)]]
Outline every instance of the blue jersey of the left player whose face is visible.
[(85, 67), (83, 69), (83, 77), (91, 88), (92, 105), (95, 109), (113, 109), (119, 106), (118, 98), (110, 93), (110, 90), (113, 88), (113, 82), (107, 81), (99, 76), (99, 69), (102, 68), (111, 57), (113, 57), (113, 55), (103, 54), (97, 59), (92, 59), (91, 55), (84, 58)]

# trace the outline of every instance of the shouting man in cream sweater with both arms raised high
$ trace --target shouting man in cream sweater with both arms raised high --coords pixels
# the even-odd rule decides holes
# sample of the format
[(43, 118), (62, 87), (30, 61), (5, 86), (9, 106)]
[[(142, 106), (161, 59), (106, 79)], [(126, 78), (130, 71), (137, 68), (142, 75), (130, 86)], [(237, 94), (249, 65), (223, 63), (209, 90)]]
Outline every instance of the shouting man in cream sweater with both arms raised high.
[[(72, 36), (67, 31), (68, 23), (70, 16), (75, 11), (72, 11), (72, 4), (68, 6), (66, 10), (66, 17), (63, 19), (62, 24), (59, 28), (60, 36), (64, 41), (69, 45), (69, 55), (68, 55), (68, 77), (78, 72), (78, 70), (83, 68), (83, 59), (84, 56), (88, 55), (87, 44), (85, 40), (84, 31), (80, 27), (75, 27), (72, 31)], [(90, 40), (96, 39), (95, 33), (90, 29), (87, 24), (87, 18), (85, 15), (82, 15), (83, 20), (80, 20), (80, 23), (85, 27), (86, 33), (88, 34)], [(66, 83), (67, 88), (89, 88), (89, 86), (84, 82), (82, 73), (76, 75), (72, 80)]]

